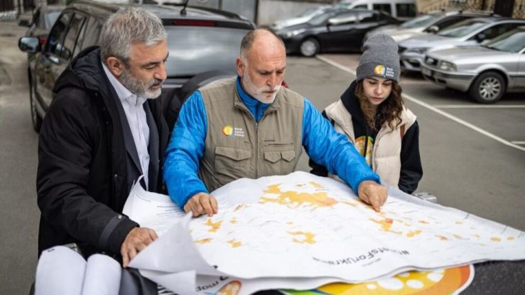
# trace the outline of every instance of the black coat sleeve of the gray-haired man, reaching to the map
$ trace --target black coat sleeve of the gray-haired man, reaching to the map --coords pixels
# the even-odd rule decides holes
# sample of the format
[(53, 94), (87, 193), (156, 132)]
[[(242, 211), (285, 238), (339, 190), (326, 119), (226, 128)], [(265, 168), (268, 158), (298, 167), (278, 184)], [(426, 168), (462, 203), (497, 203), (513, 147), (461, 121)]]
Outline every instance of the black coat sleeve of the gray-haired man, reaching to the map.
[[(91, 153), (97, 143), (93, 113), (82, 91), (57, 95), (39, 136), (37, 202), (41, 217), (57, 230), (97, 249), (119, 254), (124, 238), (138, 224), (88, 195)], [(111, 181), (111, 180), (110, 180)], [(111, 200), (108, 200), (111, 202)]]

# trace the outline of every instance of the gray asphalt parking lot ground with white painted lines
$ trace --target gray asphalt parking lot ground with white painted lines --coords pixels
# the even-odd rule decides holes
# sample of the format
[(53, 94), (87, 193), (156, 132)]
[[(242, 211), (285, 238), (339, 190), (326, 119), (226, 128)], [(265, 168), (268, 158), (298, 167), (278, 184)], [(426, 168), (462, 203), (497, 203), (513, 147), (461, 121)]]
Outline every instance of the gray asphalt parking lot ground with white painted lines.
[[(17, 49), (22, 34), (14, 23), (1, 23), (0, 294), (26, 294), (37, 263), (38, 135), (30, 120), (26, 55)], [(289, 57), (286, 81), (322, 110), (352, 82), (358, 61), (355, 54)], [(417, 191), (525, 230), (525, 94), (480, 105), (419, 75), (405, 75), (401, 85), (421, 129), (423, 180)], [(304, 153), (298, 169), (308, 170)]]

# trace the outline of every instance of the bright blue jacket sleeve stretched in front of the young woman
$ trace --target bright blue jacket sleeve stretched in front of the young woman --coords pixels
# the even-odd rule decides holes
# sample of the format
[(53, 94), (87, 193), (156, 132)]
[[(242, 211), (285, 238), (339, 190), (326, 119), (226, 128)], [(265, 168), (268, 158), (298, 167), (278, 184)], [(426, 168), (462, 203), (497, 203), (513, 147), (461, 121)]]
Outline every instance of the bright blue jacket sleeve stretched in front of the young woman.
[(309, 157), (326, 167), (327, 171), (338, 175), (357, 193), (364, 180), (380, 183), (379, 175), (347, 140), (337, 133), (330, 122), (305, 98), (303, 113), (303, 146)]

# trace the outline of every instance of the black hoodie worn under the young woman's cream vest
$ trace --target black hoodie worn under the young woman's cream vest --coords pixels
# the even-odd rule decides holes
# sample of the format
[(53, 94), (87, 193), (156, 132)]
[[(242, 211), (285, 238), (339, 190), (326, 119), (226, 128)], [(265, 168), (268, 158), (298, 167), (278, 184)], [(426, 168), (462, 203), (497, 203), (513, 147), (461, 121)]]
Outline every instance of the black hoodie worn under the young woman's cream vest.
[[(365, 156), (367, 151), (367, 144), (373, 144), (377, 131), (370, 129), (365, 122), (363, 111), (359, 105), (359, 100), (355, 95), (356, 82), (352, 82), (346, 91), (341, 95), (341, 102), (346, 110), (352, 115), (352, 126), (354, 127), (354, 136), (356, 139), (363, 137), (365, 146), (358, 150), (361, 155)], [(390, 97), (388, 98), (390, 99)], [(323, 116), (327, 118), (325, 111)], [(334, 122), (332, 122), (332, 125)], [(379, 129), (379, 128), (378, 128)], [(309, 166), (315, 175), (327, 176), (328, 171), (325, 166), (317, 164), (313, 160), (309, 160)], [(381, 176), (381, 175), (380, 175)], [(419, 155), (419, 125), (417, 121), (410, 126), (410, 128), (403, 135), (401, 140), (401, 173), (399, 177), (398, 187), (405, 193), (413, 193), (417, 189), (417, 184), (423, 176), (423, 168), (421, 167), (421, 157)]]

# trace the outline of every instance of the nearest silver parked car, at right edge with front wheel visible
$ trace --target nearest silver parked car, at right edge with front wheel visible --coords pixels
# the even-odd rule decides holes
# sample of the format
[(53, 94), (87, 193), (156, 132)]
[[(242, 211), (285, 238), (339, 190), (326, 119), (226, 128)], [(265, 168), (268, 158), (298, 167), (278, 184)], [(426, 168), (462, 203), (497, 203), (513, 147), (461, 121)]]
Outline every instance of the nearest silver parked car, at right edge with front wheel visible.
[(525, 26), (482, 46), (432, 51), (421, 73), (436, 84), (468, 92), (485, 104), (497, 102), (506, 92), (525, 92)]

